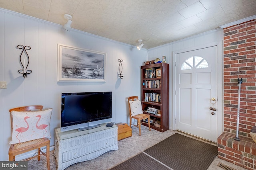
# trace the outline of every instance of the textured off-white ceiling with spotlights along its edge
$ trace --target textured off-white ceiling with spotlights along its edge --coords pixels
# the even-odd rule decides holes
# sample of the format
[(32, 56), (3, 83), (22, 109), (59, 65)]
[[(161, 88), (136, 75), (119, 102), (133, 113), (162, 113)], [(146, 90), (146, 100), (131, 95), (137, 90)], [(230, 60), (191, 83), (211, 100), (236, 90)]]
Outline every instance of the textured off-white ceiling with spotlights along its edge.
[[(256, 15), (256, 0), (0, 0), (0, 8), (149, 49)], [(72, 30), (71, 30), (72, 31)]]

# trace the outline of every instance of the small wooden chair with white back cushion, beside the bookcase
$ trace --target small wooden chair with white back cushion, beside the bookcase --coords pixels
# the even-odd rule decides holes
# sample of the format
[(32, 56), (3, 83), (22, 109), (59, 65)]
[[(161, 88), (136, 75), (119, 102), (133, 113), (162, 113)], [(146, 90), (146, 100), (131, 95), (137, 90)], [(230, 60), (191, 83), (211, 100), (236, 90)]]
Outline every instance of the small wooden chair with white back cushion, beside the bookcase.
[[(140, 125), (141, 125), (141, 120), (143, 119), (148, 119), (148, 127), (150, 129), (150, 115), (149, 114), (144, 114), (142, 111), (142, 105), (140, 100), (138, 100), (138, 96), (131, 96), (128, 98), (128, 104), (129, 104), (129, 111), (130, 111), (130, 127), (132, 127), (132, 119), (137, 120), (137, 124), (134, 125), (139, 128), (140, 131)], [(141, 136), (141, 133), (140, 133)]]

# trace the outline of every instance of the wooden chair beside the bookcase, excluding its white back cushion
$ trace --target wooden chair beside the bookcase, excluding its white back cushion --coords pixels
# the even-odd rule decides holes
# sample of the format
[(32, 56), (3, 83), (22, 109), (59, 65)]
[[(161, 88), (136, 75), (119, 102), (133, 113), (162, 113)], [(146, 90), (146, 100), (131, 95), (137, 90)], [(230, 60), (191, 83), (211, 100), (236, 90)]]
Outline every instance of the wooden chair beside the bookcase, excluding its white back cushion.
[[(130, 106), (129, 101), (135, 101), (135, 100), (138, 100), (138, 96), (131, 96), (131, 97), (128, 98), (129, 111), (130, 111), (130, 127), (132, 127), (132, 125), (134, 125), (134, 124), (132, 124), (132, 118), (136, 119), (137, 120), (137, 125), (134, 125), (134, 126), (138, 127), (139, 131), (140, 131), (141, 120), (147, 118), (148, 119), (148, 127), (149, 127), (149, 130), (151, 131), (151, 129), (150, 129), (150, 115), (149, 114), (144, 114), (143, 111), (142, 111), (142, 113), (132, 116), (132, 111), (131, 111), (131, 106)], [(141, 106), (141, 104), (140, 104), (140, 106)], [(141, 133), (140, 133), (140, 136), (141, 136)]]

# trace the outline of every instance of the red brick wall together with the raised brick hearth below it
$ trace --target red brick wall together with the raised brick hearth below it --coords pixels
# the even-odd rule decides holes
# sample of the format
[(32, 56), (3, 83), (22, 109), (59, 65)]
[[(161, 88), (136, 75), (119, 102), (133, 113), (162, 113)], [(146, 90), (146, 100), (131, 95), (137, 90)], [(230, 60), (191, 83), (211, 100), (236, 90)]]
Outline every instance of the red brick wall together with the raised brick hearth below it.
[[(256, 19), (224, 28), (224, 133), (218, 137), (218, 157), (246, 169), (256, 169)], [(239, 138), (235, 141), (240, 92)]]

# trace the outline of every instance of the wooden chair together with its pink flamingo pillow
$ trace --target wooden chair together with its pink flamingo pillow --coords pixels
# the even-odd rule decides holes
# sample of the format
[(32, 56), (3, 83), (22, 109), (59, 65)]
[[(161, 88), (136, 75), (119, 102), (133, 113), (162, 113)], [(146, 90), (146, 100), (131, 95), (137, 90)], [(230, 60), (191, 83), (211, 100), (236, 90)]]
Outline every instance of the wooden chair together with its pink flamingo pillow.
[[(44, 155), (47, 160), (47, 168), (50, 170), (50, 135), (46, 133), (50, 133), (50, 127), (48, 126), (50, 126), (49, 117), (51, 116), (52, 109), (44, 111), (42, 109), (43, 106), (37, 105), (17, 107), (9, 110), (12, 125), (12, 141), (9, 143), (11, 145), (9, 149), (9, 161), (15, 161), (15, 156), (18, 154), (38, 149), (38, 154), (36, 156), (32, 156), (26, 160), (30, 160), (35, 157), (38, 157), (38, 160), (40, 160), (40, 156)], [(45, 121), (48, 123), (45, 123)], [(37, 128), (38, 133), (40, 133), (42, 137), (36, 139), (36, 134), (30, 133), (30, 130), (32, 130), (33, 133), (36, 133), (32, 128)], [(30, 140), (31, 137), (35, 139)], [(46, 153), (42, 152), (42, 147), (46, 147)]]

